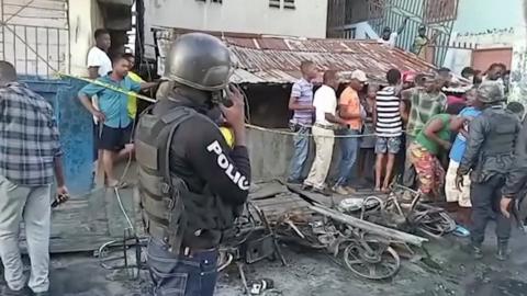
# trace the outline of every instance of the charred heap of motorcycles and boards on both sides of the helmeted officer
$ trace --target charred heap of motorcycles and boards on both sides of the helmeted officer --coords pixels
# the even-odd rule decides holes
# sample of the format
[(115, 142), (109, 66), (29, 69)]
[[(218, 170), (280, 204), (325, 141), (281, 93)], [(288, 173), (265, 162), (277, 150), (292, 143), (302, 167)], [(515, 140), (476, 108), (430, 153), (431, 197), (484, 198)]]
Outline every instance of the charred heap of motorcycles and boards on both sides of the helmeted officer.
[[(419, 192), (396, 184), (388, 196), (341, 198), (338, 203), (336, 197), (278, 181), (270, 190), (266, 184), (260, 187), (249, 195), (244, 214), (220, 250), (218, 270), (236, 264), (247, 294), (258, 294), (258, 288), (255, 292), (255, 286), (248, 285), (245, 265), (280, 260), (287, 266), (281, 244), (327, 253), (359, 277), (385, 280), (396, 275), (402, 257), (416, 254), (428, 241), (425, 237), (439, 238), (456, 228), (445, 209), (422, 203)], [(146, 242), (127, 229), (123, 240), (99, 249), (101, 265), (125, 270), (131, 278), (137, 278), (145, 269)]]

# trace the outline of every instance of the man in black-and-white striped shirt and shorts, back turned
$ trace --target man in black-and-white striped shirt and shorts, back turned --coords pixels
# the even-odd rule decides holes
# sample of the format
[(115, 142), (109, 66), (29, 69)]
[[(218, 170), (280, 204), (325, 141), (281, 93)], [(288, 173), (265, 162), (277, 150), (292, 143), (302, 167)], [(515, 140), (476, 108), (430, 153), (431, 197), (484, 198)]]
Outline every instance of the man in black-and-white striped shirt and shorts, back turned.
[[(403, 119), (401, 116), (402, 103), (399, 98), (401, 72), (391, 69), (386, 73), (388, 87), (377, 92), (373, 121), (375, 123), (375, 191), (388, 191), (393, 172), (395, 156), (401, 149)], [(384, 181), (381, 187), (382, 167), (388, 156)]]

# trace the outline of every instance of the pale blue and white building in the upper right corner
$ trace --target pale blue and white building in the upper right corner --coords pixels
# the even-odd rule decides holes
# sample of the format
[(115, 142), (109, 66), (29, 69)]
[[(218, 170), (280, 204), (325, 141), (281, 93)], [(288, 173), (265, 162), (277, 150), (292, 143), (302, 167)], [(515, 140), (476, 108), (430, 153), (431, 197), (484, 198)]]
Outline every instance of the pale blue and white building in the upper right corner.
[[(503, 62), (512, 73), (508, 99), (527, 104), (526, 2), (459, 0), (451, 36), (456, 46), (448, 49), (444, 65), (460, 72), (466, 66), (484, 71)], [(471, 48), (459, 48), (464, 44)]]

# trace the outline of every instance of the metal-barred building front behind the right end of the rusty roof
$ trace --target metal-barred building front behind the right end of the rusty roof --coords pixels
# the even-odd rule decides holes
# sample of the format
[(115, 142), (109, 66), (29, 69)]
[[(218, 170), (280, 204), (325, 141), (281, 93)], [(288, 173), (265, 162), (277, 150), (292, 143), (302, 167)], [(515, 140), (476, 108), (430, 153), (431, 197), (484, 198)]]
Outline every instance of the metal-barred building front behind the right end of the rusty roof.
[[(384, 27), (392, 32), (407, 19), (396, 46), (411, 50), (422, 24), (439, 44), (450, 39), (457, 3), (462, 0), (330, 0), (327, 35), (337, 38), (378, 39)], [(425, 48), (427, 60), (441, 65), (446, 48)]]

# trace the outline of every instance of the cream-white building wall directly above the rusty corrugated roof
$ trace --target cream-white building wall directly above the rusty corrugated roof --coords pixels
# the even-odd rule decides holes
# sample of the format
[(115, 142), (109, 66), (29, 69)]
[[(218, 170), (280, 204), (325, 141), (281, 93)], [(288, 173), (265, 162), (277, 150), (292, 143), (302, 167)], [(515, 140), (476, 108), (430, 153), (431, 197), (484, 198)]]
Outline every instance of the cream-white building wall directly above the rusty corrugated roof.
[[(283, 2), (283, 0), (281, 1)], [(145, 52), (153, 56), (153, 26), (276, 34), (326, 36), (327, 0), (296, 0), (295, 9), (270, 8), (269, 0), (145, 1)]]

